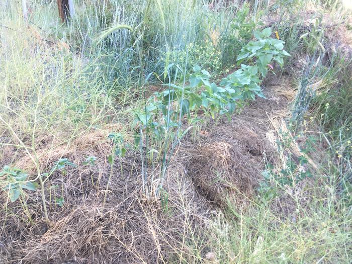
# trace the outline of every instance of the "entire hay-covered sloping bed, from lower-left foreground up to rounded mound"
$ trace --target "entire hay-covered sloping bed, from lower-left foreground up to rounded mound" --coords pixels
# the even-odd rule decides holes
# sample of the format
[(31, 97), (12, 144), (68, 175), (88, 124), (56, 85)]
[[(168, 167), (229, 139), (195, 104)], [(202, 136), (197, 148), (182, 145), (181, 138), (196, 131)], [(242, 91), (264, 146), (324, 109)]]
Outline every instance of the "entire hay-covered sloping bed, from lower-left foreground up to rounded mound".
[[(50, 226), (44, 221), (39, 192), (27, 201), (34, 225), (21, 219), (27, 216), (18, 202), (2, 210), (2, 261), (157, 263), (180, 254), (187, 260), (192, 250), (187, 240), (205, 239), (202, 229), (210, 212), (225, 207), (228, 198), (245, 202), (257, 187), (265, 162), (277, 158), (270, 118), (282, 118), (287, 100), (270, 88), (266, 95), (268, 100), (252, 102), (230, 121), (213, 121), (198, 140), (189, 137), (181, 143), (164, 186), (167, 206), (143, 198), (141, 168), (134, 153), (121, 160), (123, 173), (120, 162), (111, 170), (108, 132), (91, 131), (53, 149), (43, 144), (38, 153), (47, 153), (41, 158), (41, 170), (48, 170), (60, 157), (78, 167), (55, 172), (47, 184), (51, 205), (56, 197), (65, 201), (62, 207), (50, 206)], [(86, 166), (82, 164), (86, 156), (101, 158), (95, 166)], [(16, 166), (33, 173), (30, 164), (23, 157)], [(2, 200), (6, 201), (4, 192)]]

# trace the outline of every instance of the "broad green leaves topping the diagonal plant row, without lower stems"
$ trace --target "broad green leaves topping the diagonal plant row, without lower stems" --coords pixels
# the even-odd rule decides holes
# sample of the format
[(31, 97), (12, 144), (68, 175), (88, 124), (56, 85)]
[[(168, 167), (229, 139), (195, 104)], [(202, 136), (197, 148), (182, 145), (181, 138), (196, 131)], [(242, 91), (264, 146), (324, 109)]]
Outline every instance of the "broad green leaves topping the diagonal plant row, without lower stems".
[[(145, 109), (134, 111), (135, 124), (140, 122), (143, 127), (152, 129), (158, 136), (163, 134), (166, 126), (178, 128), (177, 118), (180, 115), (190, 117), (191, 111), (197, 112), (197, 109), (202, 109), (214, 118), (218, 113), (232, 114), (236, 106), (241, 105), (246, 99), (254, 100), (255, 96), (264, 98), (260, 89), (260, 77), (266, 76), (268, 64), (273, 59), (282, 65), (283, 56), (289, 56), (289, 54), (283, 50), (283, 41), (269, 38), (270, 28), (254, 34), (260, 40), (249, 42), (242, 49), (237, 60), (257, 58), (256, 65), (242, 64), (240, 69), (221, 80), (221, 86), (210, 82), (210, 73), (195, 65), (189, 77), (189, 85), (182, 87), (174, 83), (165, 84), (169, 89), (154, 93), (148, 99)], [(245, 51), (251, 53), (244, 53)], [(200, 92), (201, 88), (203, 91)], [(178, 107), (171, 110), (170, 104), (174, 101), (178, 103)], [(163, 116), (162, 123), (155, 121), (160, 114)]]

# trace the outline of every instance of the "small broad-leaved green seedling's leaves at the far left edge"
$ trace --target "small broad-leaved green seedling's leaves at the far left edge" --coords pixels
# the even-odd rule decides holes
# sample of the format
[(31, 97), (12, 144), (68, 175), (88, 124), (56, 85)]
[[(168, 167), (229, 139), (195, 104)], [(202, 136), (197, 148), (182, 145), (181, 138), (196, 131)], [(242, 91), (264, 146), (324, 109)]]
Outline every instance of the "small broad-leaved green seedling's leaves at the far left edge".
[(37, 183), (29, 182), (27, 180), (28, 174), (19, 168), (12, 168), (4, 166), (0, 171), (0, 177), (6, 178), (6, 185), (3, 190), (9, 194), (11, 202), (15, 202), (20, 195), (24, 196), (23, 189), (35, 191), (38, 187)]

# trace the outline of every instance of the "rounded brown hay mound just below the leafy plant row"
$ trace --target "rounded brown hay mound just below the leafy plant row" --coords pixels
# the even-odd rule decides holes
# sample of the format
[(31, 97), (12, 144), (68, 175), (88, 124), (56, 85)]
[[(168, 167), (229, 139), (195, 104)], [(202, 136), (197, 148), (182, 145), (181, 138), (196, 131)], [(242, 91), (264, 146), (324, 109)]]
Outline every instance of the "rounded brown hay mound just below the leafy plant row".
[(231, 122), (208, 128), (201, 145), (191, 152), (188, 174), (198, 192), (220, 207), (228, 197), (239, 204), (253, 194), (266, 162), (277, 159), (268, 135), (270, 115), (284, 115), (287, 100), (266, 91), (268, 100), (257, 100)]

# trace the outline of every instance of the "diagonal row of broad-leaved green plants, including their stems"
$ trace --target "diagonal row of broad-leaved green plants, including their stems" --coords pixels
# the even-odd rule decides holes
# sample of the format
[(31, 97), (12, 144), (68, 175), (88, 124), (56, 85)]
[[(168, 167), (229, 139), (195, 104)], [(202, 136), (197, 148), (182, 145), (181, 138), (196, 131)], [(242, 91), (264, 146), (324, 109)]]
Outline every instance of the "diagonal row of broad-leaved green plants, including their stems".
[[(247, 43), (237, 57), (240, 68), (222, 78), (219, 85), (211, 81), (210, 73), (198, 65), (193, 67), (186, 83), (185, 72), (178, 65), (170, 64), (167, 79), (178, 80), (177, 74), (181, 72), (183, 83), (164, 84), (167, 89), (154, 93), (146, 99), (143, 108), (134, 111), (135, 126), (139, 131), (135, 137), (138, 138), (136, 142), (141, 150), (141, 159), (146, 166), (155, 159), (162, 164), (156, 187), (148, 189), (153, 190), (154, 195), (160, 193), (175, 146), (201, 121), (199, 113), (213, 119), (218, 114), (230, 118), (247, 100), (254, 100), (256, 96), (265, 98), (260, 83), (268, 71), (274, 69), (272, 61), (282, 66), (284, 57), (290, 56), (284, 50), (284, 41), (271, 38), (271, 35), (271, 28), (254, 31), (256, 41)], [(174, 76), (170, 76), (172, 68)], [(187, 128), (185, 123), (189, 125)], [(144, 170), (144, 185), (148, 180), (146, 173)], [(154, 179), (152, 182), (155, 182)]]

